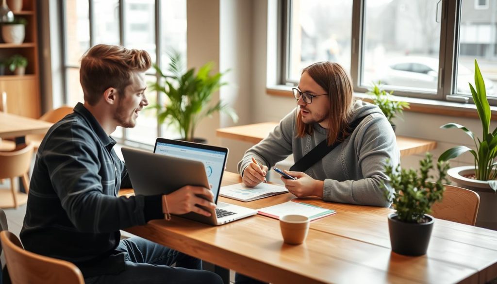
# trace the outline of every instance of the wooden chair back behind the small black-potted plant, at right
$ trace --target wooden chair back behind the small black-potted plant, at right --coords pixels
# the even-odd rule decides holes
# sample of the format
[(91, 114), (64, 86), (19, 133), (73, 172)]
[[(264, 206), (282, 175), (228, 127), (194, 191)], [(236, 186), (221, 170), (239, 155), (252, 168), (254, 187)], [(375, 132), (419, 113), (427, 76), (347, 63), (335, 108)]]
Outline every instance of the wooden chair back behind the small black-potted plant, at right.
[(442, 202), (431, 206), (431, 215), (438, 219), (475, 225), (480, 195), (475, 191), (445, 185)]

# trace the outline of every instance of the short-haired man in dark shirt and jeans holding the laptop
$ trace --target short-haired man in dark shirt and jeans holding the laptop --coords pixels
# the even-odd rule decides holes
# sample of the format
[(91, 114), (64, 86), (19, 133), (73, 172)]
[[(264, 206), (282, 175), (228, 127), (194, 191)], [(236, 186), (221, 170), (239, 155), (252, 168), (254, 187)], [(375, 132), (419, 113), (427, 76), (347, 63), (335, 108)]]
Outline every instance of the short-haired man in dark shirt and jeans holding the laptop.
[(216, 206), (209, 189), (192, 186), (117, 197), (120, 188), (132, 186), (109, 135), (117, 126), (134, 127), (148, 105), (145, 71), (151, 64), (143, 50), (96, 45), (86, 52), (84, 104), (54, 124), (39, 147), (20, 237), (28, 251), (76, 264), (86, 283), (222, 283), (201, 270), (199, 259), (142, 238), (120, 240), (120, 229), (163, 218), (163, 208), (209, 216), (196, 205)]

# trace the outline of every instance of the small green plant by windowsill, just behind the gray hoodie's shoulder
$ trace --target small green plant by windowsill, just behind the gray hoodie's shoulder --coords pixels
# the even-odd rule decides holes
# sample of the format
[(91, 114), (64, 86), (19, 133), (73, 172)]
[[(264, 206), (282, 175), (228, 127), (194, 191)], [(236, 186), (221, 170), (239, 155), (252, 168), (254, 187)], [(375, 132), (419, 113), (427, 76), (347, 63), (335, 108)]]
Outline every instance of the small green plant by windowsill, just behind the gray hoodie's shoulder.
[[(384, 85), (381, 84), (381, 81), (378, 81), (378, 83), (373, 82), (371, 88), (368, 89), (366, 94), (371, 95), (373, 103), (378, 105), (383, 114), (385, 114), (388, 122), (390, 122), (390, 125), (392, 125), (395, 132), (395, 124), (392, 122), (392, 119), (397, 117), (399, 114), (402, 114), (404, 108), (409, 108), (409, 102), (392, 99), (391, 95), (394, 91), (387, 93), (383, 90), (383, 86)], [(399, 118), (401, 117), (399, 116)]]

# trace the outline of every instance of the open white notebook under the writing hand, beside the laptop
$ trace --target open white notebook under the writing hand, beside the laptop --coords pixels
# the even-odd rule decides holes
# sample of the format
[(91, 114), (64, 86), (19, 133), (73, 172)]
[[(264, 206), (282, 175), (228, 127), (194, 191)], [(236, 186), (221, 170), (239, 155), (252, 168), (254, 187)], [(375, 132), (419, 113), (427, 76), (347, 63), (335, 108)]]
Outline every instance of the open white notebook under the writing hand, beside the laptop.
[(260, 183), (256, 187), (249, 188), (243, 183), (221, 187), (219, 195), (244, 202), (260, 199), (272, 195), (288, 192), (282, 186)]

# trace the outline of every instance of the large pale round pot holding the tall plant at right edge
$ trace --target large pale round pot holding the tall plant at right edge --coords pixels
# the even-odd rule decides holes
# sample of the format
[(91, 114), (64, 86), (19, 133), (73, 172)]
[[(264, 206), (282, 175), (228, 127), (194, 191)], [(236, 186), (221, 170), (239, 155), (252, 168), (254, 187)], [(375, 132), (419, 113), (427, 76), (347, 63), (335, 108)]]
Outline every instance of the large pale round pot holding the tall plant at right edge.
[(475, 173), (474, 166), (449, 169), (447, 175), (458, 187), (476, 191), (480, 195), (480, 207), (476, 217), (476, 226), (497, 230), (497, 193), (487, 181), (465, 178)]

